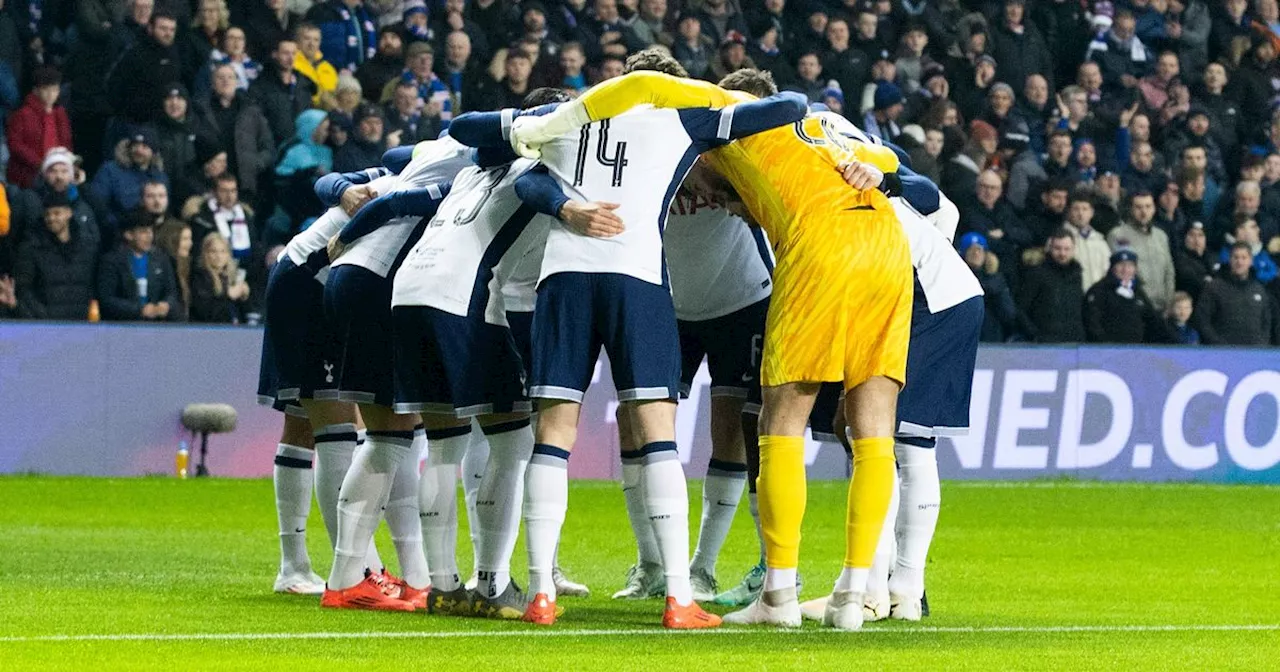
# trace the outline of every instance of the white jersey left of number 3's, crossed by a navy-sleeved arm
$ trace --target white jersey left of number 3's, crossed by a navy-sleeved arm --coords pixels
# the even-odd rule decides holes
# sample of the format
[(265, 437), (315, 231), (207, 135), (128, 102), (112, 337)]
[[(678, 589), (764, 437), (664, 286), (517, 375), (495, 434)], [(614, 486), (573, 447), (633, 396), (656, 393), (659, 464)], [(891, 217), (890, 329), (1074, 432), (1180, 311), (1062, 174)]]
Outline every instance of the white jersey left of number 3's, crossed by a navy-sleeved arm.
[[(474, 165), (474, 150), (452, 138), (422, 142), (413, 150), (413, 159), (399, 174), (383, 175), (370, 187), (379, 195), (420, 189), (449, 182), (458, 170)], [(385, 278), (417, 228), (420, 216), (404, 216), (387, 221), (378, 229), (357, 238), (333, 262), (334, 266), (355, 265)]]

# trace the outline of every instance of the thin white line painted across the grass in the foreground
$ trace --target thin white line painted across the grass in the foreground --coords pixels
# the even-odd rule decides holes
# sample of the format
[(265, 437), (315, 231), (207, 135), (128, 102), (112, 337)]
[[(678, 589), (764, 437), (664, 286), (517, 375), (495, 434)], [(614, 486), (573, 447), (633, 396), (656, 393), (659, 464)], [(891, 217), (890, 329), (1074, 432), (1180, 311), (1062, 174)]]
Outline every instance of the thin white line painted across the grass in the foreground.
[(870, 626), (859, 632), (842, 632), (829, 628), (810, 630), (658, 630), (658, 628), (616, 628), (616, 630), (480, 630), (480, 631), (384, 631), (384, 632), (191, 632), (191, 634), (120, 634), (120, 635), (37, 635), (4, 636), (0, 644), (33, 644), (61, 641), (256, 641), (256, 640), (343, 640), (343, 639), (536, 639), (536, 637), (613, 637), (613, 636), (707, 636), (707, 635), (756, 635), (760, 632), (783, 632), (787, 635), (987, 635), (987, 634), (1075, 634), (1075, 632), (1271, 632), (1280, 631), (1280, 623), (1261, 625), (1162, 625), (1162, 626), (951, 626), (951, 627), (902, 627), (888, 628)]

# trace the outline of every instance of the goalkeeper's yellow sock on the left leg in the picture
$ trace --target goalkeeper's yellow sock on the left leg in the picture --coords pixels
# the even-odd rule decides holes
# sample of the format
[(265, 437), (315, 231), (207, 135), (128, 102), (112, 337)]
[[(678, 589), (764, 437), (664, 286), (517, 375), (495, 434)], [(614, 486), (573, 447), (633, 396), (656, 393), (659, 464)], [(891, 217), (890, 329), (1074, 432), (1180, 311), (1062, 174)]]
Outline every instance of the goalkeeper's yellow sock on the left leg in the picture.
[(803, 436), (760, 436), (760, 477), (755, 490), (765, 563), (781, 570), (797, 567), (806, 498)]

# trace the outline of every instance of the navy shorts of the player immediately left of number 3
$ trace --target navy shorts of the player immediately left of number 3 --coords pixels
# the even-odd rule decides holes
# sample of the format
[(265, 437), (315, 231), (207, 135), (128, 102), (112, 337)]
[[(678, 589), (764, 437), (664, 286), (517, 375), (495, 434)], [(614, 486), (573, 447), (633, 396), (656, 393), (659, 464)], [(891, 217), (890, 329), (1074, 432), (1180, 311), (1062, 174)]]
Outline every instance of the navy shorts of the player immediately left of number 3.
[(342, 346), (335, 369), (338, 398), (389, 408), (396, 401), (390, 278), (364, 266), (334, 266), (325, 282), (324, 307)]

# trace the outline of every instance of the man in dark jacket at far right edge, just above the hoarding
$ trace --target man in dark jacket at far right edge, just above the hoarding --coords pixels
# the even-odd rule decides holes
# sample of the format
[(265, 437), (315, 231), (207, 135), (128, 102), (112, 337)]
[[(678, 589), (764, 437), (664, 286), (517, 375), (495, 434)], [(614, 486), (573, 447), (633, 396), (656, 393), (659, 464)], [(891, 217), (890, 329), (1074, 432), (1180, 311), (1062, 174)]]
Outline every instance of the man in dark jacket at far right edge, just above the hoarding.
[(1253, 251), (1233, 243), (1228, 262), (1196, 302), (1196, 326), (1206, 346), (1280, 344), (1275, 302), (1253, 276)]

